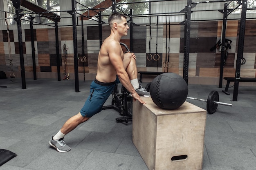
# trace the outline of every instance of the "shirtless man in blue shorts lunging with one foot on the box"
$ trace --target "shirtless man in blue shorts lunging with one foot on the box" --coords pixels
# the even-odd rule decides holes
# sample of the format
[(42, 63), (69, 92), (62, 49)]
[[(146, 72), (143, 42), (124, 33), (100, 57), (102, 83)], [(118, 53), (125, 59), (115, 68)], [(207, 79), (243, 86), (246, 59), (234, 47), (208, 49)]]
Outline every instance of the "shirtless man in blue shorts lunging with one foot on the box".
[(135, 54), (124, 54), (120, 45), (121, 37), (126, 36), (129, 29), (126, 18), (120, 13), (110, 15), (108, 22), (111, 33), (99, 51), (97, 75), (90, 86), (90, 95), (81, 111), (68, 119), (61, 130), (49, 141), (49, 145), (58, 152), (71, 150), (63, 138), (79, 124), (102, 110), (102, 106), (112, 93), (115, 84), (121, 82), (133, 99), (138, 100), (141, 104), (146, 102), (141, 99), (140, 95), (150, 97), (150, 93), (139, 84)]

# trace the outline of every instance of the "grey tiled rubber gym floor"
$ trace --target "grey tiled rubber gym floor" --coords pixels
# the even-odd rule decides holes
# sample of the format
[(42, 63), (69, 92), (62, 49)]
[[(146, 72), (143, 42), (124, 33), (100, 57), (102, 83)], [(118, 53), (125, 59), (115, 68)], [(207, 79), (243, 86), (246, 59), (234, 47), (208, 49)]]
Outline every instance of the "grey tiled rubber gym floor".
[[(103, 110), (65, 137), (72, 149), (60, 153), (48, 144), (63, 123), (77, 114), (89, 94), (91, 81), (81, 80), (75, 92), (74, 80), (0, 79), (0, 148), (18, 156), (0, 170), (148, 170), (132, 144), (132, 122), (113, 109)], [(232, 84), (232, 83), (231, 83)], [(146, 83), (142, 83), (145, 87)], [(207, 99), (212, 90), (220, 102), (217, 112), (207, 114), (203, 170), (255, 170), (256, 87), (239, 86), (238, 102), (215, 85), (189, 84), (189, 97)], [(111, 104), (112, 95), (105, 105)], [(187, 99), (206, 109), (206, 102)]]

